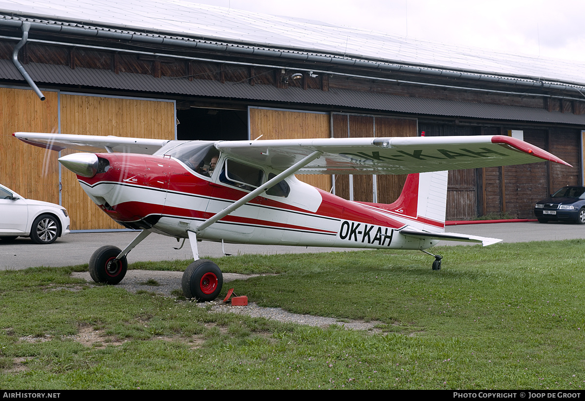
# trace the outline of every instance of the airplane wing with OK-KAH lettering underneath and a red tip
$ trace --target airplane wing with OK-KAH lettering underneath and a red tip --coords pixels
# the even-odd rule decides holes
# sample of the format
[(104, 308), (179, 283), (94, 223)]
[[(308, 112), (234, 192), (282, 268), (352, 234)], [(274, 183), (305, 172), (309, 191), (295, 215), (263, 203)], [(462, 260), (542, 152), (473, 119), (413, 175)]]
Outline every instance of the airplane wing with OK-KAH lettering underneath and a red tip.
[(388, 137), (219, 141), (240, 160), (285, 170), (314, 151), (321, 157), (300, 174), (407, 174), (553, 161), (553, 154), (508, 136)]

